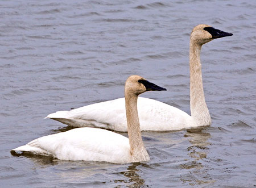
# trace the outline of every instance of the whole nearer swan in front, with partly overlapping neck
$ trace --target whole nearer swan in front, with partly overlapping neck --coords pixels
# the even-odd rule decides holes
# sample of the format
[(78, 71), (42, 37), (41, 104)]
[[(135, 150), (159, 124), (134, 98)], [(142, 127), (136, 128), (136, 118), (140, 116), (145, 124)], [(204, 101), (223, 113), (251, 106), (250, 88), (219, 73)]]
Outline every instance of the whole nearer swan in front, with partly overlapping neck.
[(141, 137), (137, 111), (138, 95), (145, 91), (166, 90), (140, 76), (130, 76), (125, 83), (127, 137), (99, 128), (75, 128), (32, 140), (12, 151), (53, 156), (60, 160), (107, 161), (117, 164), (148, 161), (150, 157)]

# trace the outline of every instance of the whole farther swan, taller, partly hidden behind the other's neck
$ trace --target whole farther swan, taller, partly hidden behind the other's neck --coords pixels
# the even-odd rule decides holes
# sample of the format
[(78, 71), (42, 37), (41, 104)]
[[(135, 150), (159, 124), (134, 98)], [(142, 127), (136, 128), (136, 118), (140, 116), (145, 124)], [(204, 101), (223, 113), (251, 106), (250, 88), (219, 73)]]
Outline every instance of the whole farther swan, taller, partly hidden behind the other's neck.
[[(191, 116), (176, 107), (139, 97), (138, 112), (142, 131), (171, 131), (211, 124), (204, 98), (200, 51), (203, 44), (213, 39), (232, 35), (206, 24), (200, 24), (193, 28), (189, 49)], [(124, 104), (125, 99), (119, 98), (71, 111), (57, 111), (49, 114), (46, 118), (73, 127), (98, 127), (126, 132)]]

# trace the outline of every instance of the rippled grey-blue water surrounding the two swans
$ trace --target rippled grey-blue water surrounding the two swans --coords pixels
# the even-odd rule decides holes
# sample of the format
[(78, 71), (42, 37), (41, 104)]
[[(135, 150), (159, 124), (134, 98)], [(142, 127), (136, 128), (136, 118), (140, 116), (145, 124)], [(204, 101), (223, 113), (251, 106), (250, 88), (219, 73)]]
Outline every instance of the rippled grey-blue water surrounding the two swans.
[[(245, 0), (1, 1), (0, 186), (255, 186), (255, 9)], [(149, 162), (11, 155), (70, 129), (47, 114), (123, 97), (131, 74), (167, 88), (143, 97), (190, 114), (189, 34), (200, 23), (234, 34), (201, 53), (212, 126), (143, 132)]]

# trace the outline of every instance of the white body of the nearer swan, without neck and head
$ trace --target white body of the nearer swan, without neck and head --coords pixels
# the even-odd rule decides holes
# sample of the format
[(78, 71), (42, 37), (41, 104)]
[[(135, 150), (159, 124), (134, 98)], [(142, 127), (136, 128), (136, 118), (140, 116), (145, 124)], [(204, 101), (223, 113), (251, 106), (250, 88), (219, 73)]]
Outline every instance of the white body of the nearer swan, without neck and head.
[(117, 164), (132, 161), (127, 137), (90, 127), (43, 136), (13, 150), (52, 156), (59, 160), (108, 161)]

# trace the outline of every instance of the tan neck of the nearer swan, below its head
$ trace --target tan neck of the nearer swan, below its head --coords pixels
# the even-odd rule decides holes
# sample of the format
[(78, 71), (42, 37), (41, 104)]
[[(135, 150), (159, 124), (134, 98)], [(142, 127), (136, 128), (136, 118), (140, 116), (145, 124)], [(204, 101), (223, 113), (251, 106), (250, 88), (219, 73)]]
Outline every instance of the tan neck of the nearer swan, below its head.
[(129, 136), (130, 152), (133, 158), (133, 162), (149, 160), (148, 153), (143, 144), (141, 128), (139, 127), (137, 101), (138, 95), (129, 93), (125, 94), (127, 132)]

